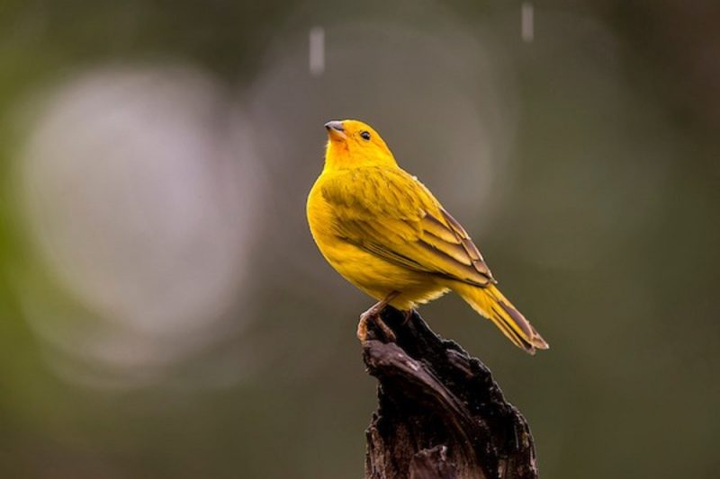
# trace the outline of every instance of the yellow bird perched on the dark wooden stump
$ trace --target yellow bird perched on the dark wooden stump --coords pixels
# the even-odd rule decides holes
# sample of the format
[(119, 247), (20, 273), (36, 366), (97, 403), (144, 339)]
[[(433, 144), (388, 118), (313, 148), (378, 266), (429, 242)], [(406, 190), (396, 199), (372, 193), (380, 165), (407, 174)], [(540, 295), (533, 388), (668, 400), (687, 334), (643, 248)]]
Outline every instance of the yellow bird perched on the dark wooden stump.
[(463, 226), (418, 179), (398, 166), (383, 138), (357, 120), (329, 121), (325, 166), (308, 197), (312, 237), (330, 265), (378, 303), (357, 337), (387, 305), (410, 312), (453, 290), (511, 342), (534, 354), (547, 342), (500, 293)]

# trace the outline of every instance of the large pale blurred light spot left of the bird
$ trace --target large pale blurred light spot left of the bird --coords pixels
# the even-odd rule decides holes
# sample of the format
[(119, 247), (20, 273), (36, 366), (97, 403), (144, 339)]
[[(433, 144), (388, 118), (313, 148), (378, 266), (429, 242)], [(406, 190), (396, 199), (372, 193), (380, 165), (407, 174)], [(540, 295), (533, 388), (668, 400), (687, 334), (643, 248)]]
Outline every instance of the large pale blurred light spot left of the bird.
[(40, 269), (72, 306), (23, 293), (64, 376), (152, 377), (247, 322), (247, 308), (226, 316), (247, 270), (256, 160), (227, 103), (208, 75), (172, 67), (89, 72), (40, 106), (20, 188)]

